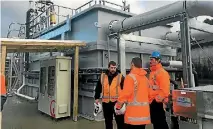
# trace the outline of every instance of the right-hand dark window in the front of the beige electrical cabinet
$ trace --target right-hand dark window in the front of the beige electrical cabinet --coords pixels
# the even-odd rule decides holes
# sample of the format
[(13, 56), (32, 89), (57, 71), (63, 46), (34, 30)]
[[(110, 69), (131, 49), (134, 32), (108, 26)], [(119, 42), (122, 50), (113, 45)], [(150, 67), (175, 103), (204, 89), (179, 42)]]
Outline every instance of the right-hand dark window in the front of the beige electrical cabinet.
[(55, 93), (55, 66), (48, 67), (48, 89), (47, 93), (54, 96)]

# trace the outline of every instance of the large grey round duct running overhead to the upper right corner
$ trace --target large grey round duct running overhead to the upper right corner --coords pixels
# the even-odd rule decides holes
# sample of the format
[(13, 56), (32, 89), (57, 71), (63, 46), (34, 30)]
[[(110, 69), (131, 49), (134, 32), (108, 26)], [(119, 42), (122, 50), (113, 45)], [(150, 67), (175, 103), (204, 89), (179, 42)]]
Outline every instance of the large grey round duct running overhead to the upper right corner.
[(212, 1), (177, 1), (161, 8), (126, 18), (122, 21), (112, 21), (109, 24), (111, 32), (133, 32), (179, 21), (179, 14), (185, 10), (189, 17), (202, 15), (213, 16)]

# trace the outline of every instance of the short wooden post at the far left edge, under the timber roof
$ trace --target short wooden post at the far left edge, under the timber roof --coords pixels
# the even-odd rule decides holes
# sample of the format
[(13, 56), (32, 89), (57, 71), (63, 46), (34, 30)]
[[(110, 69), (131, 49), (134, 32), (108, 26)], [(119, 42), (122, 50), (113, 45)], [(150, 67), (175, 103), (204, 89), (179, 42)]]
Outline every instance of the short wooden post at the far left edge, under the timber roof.
[(7, 47), (1, 46), (1, 74), (5, 75), (5, 62), (7, 57)]

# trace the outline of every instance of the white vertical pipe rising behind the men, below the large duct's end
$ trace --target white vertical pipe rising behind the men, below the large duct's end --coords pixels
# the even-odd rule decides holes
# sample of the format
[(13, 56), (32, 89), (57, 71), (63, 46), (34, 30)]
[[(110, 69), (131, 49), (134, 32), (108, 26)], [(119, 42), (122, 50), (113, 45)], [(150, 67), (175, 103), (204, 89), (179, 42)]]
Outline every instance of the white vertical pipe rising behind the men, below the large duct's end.
[(118, 59), (119, 59), (119, 66), (121, 73), (125, 76), (126, 75), (126, 52), (125, 52), (125, 39), (123, 35), (119, 35), (119, 42), (118, 42)]

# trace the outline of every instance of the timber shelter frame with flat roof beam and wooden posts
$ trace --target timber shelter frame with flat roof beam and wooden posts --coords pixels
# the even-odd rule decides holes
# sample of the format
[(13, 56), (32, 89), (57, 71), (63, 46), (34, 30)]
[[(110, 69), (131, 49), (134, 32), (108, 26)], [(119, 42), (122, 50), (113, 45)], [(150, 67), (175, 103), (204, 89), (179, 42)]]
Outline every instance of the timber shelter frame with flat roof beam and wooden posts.
[[(82, 41), (60, 41), (60, 40), (35, 40), (35, 39), (8, 39), (1, 38), (1, 74), (5, 75), (5, 62), (7, 52), (47, 52), (50, 50), (60, 51), (68, 48), (75, 48), (74, 59), (74, 104), (73, 120), (77, 121), (78, 116), (78, 70), (79, 70), (79, 47), (86, 46)], [(20, 88), (23, 88), (21, 86)], [(20, 89), (18, 90), (20, 91)], [(18, 92), (17, 91), (17, 92)], [(17, 93), (21, 97), (24, 95)]]

